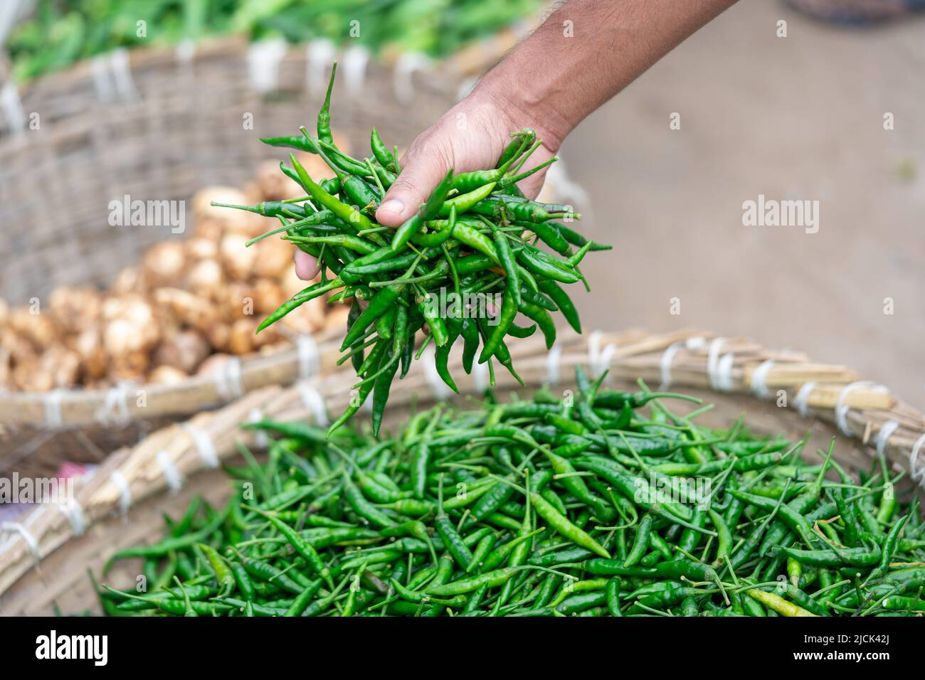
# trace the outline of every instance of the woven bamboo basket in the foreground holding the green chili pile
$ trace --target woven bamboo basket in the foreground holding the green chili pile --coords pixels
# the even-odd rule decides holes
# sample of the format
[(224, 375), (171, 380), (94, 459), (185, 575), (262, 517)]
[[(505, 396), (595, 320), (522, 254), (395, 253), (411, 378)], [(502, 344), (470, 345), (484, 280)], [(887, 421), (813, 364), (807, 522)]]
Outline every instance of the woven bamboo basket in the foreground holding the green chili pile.
[[(771, 352), (750, 340), (690, 330), (570, 334), (552, 352), (536, 339), (512, 342), (511, 350), (527, 386), (520, 388), (505, 374), (499, 376), (499, 395), (512, 389), (523, 394), (544, 384), (570, 389), (574, 365), (598, 375), (609, 368), (607, 379), (615, 387), (632, 386), (641, 377), (653, 387), (672, 385), (715, 403), (700, 416), (707, 425), (728, 427), (745, 414), (746, 426), (758, 433), (801, 439), (809, 430), (804, 451), (827, 448), (835, 437), (835, 457), (847, 469), (867, 467), (872, 456), (882, 453), (894, 470), (907, 471), (907, 488), (900, 493), (909, 490), (910, 480), (925, 484), (925, 460), (919, 459), (925, 416), (885, 388), (858, 381), (845, 366), (815, 364), (799, 352)], [(485, 389), (487, 375), (465, 376), (458, 355), (451, 356), (450, 368), (463, 394)], [(228, 478), (215, 469), (218, 462), (235, 455), (236, 442), (254, 449), (265, 443), (238, 427), (252, 409), (283, 420), (324, 422), (326, 406), (332, 414), (346, 406), (350, 384), (343, 374), (316, 378), (314, 387), (324, 402), (306, 399), (291, 387), (255, 389), (215, 412), (117, 451), (80, 481), (68, 507), (44, 506), (19, 524), (4, 525), (0, 613), (47, 614), (56, 606), (62, 612), (98, 611), (88, 569), (99, 574), (115, 551), (159, 537), (161, 513), (179, 515), (192, 495), (228, 499)], [(393, 386), (384, 427), (401, 422), (413, 402), (446, 397), (432, 356), (425, 357)], [(118, 563), (107, 580), (129, 583), (137, 574), (133, 568), (139, 564)]]

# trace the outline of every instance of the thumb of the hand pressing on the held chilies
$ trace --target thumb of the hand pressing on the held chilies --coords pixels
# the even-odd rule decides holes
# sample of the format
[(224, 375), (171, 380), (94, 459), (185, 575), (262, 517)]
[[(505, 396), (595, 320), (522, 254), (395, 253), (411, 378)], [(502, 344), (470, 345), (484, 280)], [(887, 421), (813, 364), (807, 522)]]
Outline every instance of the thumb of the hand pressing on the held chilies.
[(401, 173), (389, 187), (376, 210), (376, 221), (387, 227), (401, 227), (426, 202), (450, 168), (446, 158), (431, 146), (410, 149), (401, 159)]

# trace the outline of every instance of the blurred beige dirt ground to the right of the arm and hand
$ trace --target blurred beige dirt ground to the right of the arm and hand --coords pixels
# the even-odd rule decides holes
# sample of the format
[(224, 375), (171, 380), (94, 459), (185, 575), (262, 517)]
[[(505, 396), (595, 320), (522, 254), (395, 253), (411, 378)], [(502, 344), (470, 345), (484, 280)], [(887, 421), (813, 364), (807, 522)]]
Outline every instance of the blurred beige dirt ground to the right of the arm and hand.
[[(563, 147), (614, 245), (586, 260), (587, 328), (745, 335), (925, 407), (923, 72), (925, 17), (834, 28), (743, 0), (691, 37)], [(819, 231), (743, 226), (759, 194), (819, 201)]]

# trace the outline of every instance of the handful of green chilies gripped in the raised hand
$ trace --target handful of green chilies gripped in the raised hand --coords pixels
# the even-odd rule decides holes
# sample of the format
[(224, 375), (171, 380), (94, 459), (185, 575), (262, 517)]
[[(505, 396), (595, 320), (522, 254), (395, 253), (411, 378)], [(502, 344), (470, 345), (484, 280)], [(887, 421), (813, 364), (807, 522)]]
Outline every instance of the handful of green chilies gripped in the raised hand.
[[(521, 172), (541, 144), (530, 129), (512, 135), (497, 167), (459, 175), (450, 170), (399, 229), (379, 226), (376, 208), (400, 172), (398, 156), (394, 149), (388, 150), (375, 129), (369, 158), (352, 158), (335, 146), (330, 94), (336, 70), (337, 64), (331, 69), (327, 97), (318, 114), (316, 138), (302, 128), (298, 137), (264, 140), (319, 155), (336, 177), (315, 182), (290, 154), (292, 167), (282, 163), (280, 167), (298, 182), (306, 192), (304, 197), (259, 205), (214, 205), (277, 217), (282, 226), (250, 242), (281, 233), (321, 265), (321, 280), (280, 305), (257, 332), (302, 303), (334, 291), (328, 302), (351, 301), (340, 347), (347, 353), (340, 362), (351, 359), (360, 381), (353, 386), (357, 395), (331, 431), (372, 395), (375, 434), (400, 366), (404, 377), (413, 357), (420, 357), (431, 340), (436, 345), (438, 374), (453, 391), (459, 389), (448, 364), (450, 349), (459, 339), (466, 373), (472, 371), (477, 352), (478, 363), (487, 364), (492, 386), (495, 361), (520, 381), (505, 338), (526, 338), (538, 327), (551, 347), (556, 327), (550, 312), (557, 311), (581, 332), (578, 313), (561, 286), (582, 281), (588, 289), (578, 264), (589, 251), (610, 246), (588, 241), (554, 221), (580, 217), (568, 206), (527, 200), (517, 188), (518, 181), (556, 160), (553, 157)], [(556, 254), (538, 248), (539, 242)], [(502, 300), (499, 309), (498, 298)], [(366, 301), (364, 307), (361, 301)], [(533, 324), (518, 326), (514, 323), (518, 314)], [(424, 327), (428, 335), (415, 354), (415, 334)]]

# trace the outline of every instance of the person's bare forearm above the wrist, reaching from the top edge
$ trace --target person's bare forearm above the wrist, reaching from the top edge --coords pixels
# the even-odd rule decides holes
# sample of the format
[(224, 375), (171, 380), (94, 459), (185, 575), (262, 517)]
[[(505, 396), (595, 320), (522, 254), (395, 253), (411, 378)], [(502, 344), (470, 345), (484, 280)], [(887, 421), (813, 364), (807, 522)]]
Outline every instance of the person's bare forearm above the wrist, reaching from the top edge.
[(556, 149), (581, 120), (735, 0), (570, 0), (476, 89)]

